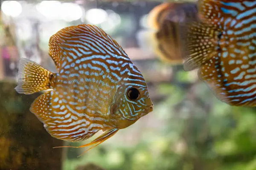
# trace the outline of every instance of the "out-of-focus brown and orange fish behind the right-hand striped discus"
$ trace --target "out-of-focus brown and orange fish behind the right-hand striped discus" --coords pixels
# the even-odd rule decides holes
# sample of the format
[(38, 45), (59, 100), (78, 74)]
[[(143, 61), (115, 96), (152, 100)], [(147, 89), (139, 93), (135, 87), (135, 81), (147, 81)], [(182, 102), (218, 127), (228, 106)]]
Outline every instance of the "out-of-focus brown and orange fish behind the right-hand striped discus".
[(171, 64), (182, 64), (185, 54), (181, 48), (179, 25), (197, 17), (196, 3), (162, 3), (148, 14), (148, 25), (153, 35), (155, 54)]

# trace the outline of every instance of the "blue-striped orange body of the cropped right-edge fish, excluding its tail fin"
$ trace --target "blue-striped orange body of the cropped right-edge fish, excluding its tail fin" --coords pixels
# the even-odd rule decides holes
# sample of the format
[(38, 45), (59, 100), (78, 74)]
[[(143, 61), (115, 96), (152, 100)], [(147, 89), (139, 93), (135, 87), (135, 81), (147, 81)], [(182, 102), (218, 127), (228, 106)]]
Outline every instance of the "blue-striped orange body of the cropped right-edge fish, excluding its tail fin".
[(199, 76), (230, 105), (256, 106), (256, 0), (201, 0), (202, 21), (221, 29)]

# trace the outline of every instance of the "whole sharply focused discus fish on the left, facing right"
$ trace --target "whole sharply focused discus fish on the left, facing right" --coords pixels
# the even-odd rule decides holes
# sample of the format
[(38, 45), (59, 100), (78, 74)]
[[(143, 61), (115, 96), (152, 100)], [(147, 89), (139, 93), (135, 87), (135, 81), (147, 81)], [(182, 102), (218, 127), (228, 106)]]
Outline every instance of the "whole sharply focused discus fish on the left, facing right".
[(101, 28), (83, 24), (61, 29), (50, 37), (49, 55), (58, 73), (22, 58), (15, 90), (33, 94), (49, 89), (30, 111), (52, 137), (78, 142), (105, 131), (80, 146), (95, 147), (153, 111), (143, 75)]

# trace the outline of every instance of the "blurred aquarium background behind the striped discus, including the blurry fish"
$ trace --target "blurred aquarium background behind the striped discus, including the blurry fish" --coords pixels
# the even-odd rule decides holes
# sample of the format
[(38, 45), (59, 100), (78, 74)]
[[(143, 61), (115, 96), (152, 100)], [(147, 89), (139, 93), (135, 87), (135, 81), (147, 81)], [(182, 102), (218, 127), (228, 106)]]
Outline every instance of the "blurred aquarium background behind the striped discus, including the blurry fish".
[[(178, 44), (172, 30), (188, 12), (196, 14), (195, 1), (0, 4), (0, 170), (256, 170), (256, 109), (216, 99), (197, 71), (183, 71), (172, 50)], [(49, 38), (81, 23), (99, 26), (124, 48), (148, 83), (154, 111), (77, 158), (86, 148), (52, 147), (88, 141), (52, 138), (29, 112), (39, 94), (20, 95), (14, 88), (21, 57), (55, 71)]]

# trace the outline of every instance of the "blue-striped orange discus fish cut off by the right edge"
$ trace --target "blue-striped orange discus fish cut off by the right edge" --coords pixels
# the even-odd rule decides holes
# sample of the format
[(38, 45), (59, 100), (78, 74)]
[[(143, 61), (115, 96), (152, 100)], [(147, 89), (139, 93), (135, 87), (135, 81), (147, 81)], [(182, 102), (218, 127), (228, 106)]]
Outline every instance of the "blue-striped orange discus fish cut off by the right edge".
[(184, 70), (196, 68), (218, 99), (256, 106), (256, 0), (199, 0), (186, 30)]

